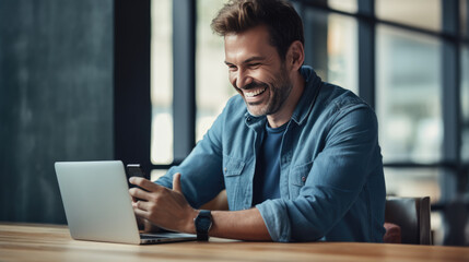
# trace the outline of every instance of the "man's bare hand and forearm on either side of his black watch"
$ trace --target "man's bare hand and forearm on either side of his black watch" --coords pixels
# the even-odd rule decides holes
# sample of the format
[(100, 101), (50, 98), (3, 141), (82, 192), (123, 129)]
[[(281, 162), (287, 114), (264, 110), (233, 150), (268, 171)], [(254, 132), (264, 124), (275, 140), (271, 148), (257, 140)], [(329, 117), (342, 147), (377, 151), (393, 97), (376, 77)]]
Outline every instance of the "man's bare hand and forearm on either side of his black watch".
[[(173, 177), (173, 190), (159, 186), (148, 179), (132, 177), (129, 181), (139, 188), (131, 188), (132, 206), (137, 216), (152, 224), (181, 233), (196, 233), (194, 219), (199, 211), (194, 210), (183, 195), (180, 174)], [(271, 240), (259, 210), (213, 211), (212, 228), (209, 236), (242, 239)]]

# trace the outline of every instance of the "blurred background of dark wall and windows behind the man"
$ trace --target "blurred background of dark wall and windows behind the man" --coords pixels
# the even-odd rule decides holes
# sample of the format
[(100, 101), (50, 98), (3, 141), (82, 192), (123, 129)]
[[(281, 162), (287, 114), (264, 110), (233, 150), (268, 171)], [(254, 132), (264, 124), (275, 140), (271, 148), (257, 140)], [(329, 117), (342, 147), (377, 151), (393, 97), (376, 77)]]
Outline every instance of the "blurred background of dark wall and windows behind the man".
[[(306, 64), (375, 108), (387, 193), (469, 245), (468, 0), (292, 0)], [(0, 0), (0, 221), (66, 223), (56, 160), (180, 163), (235, 94), (221, 0)]]

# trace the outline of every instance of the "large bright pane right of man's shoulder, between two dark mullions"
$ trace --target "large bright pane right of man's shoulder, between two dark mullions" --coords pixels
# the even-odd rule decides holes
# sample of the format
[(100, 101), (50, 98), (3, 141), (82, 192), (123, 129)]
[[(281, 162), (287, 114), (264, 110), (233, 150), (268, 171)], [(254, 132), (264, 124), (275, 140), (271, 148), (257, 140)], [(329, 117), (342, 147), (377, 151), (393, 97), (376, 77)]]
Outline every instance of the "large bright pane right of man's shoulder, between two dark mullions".
[(385, 163), (441, 160), (441, 43), (377, 27), (376, 111)]

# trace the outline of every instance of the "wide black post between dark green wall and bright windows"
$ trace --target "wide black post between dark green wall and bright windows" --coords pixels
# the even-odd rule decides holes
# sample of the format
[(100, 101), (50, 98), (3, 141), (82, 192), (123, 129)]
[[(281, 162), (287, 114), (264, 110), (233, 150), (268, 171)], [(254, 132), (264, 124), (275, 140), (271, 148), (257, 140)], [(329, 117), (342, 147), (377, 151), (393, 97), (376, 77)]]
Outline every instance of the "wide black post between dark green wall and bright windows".
[[(150, 0), (114, 1), (114, 157), (150, 162)], [(110, 48), (110, 47), (109, 47)]]

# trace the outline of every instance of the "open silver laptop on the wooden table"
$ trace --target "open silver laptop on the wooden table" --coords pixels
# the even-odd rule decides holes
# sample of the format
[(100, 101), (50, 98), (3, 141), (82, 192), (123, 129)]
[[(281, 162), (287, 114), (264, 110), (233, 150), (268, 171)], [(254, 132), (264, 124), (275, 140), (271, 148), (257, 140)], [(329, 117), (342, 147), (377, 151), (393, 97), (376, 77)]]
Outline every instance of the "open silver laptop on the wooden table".
[(197, 239), (190, 234), (139, 233), (120, 160), (57, 162), (55, 167), (73, 239), (136, 245)]

